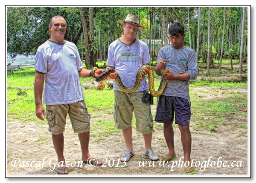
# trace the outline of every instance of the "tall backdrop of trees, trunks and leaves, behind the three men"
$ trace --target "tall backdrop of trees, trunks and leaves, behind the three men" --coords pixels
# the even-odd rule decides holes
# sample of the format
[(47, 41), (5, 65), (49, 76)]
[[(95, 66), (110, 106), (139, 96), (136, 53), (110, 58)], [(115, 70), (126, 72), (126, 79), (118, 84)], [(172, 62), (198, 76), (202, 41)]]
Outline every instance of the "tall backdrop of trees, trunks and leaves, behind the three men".
[[(174, 22), (185, 26), (184, 45), (198, 50), (198, 58), (203, 63), (209, 59), (212, 62), (212, 57), (219, 59), (221, 49), (223, 55), (228, 56), (231, 53), (232, 57), (240, 56), (243, 7), (8, 7), (7, 52), (11, 58), (18, 54), (35, 54), (38, 46), (50, 37), (50, 18), (61, 15), (67, 22), (64, 39), (75, 43), (80, 53), (83, 50), (81, 59), (86, 61), (87, 67), (93, 67), (97, 59), (107, 58), (109, 44), (122, 34), (122, 24), (118, 20), (125, 20), (128, 13), (140, 17), (140, 24), (145, 29), (138, 31), (137, 38), (148, 44), (152, 61), (159, 49), (169, 44), (168, 27)], [(247, 8), (244, 14), (242, 51), (246, 56)], [(84, 24), (81, 15), (84, 16)], [(90, 25), (92, 22), (93, 25)], [(83, 40), (82, 33), (85, 35)], [(210, 53), (207, 52), (208, 44)], [(211, 54), (211, 57), (207, 54)]]

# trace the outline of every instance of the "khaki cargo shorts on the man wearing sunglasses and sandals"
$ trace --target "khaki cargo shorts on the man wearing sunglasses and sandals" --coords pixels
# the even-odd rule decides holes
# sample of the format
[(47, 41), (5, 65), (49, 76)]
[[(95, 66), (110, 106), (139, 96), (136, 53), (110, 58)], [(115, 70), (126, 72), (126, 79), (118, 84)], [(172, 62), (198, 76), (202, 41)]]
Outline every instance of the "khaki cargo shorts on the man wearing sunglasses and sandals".
[(90, 114), (84, 100), (77, 103), (47, 105), (49, 132), (58, 135), (65, 131), (67, 113), (75, 133), (90, 131)]

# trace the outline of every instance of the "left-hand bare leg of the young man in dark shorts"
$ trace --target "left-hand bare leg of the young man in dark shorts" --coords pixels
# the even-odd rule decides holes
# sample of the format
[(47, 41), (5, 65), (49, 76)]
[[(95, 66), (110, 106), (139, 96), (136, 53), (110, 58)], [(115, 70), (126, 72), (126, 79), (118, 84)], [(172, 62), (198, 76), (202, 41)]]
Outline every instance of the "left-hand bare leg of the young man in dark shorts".
[[(172, 123), (163, 123), (163, 135), (166, 140), (167, 147), (169, 149), (169, 152), (166, 154), (166, 157), (176, 157), (175, 150), (174, 150), (174, 131), (172, 128)], [(164, 159), (164, 156), (161, 157), (161, 160), (163, 161), (169, 161), (170, 158)]]

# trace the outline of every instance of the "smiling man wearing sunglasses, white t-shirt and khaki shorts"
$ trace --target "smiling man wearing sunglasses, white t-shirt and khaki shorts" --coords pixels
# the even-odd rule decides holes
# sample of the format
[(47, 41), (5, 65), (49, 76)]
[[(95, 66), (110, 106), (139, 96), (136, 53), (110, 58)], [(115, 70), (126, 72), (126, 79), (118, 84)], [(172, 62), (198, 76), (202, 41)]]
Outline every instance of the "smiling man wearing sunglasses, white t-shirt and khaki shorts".
[[(66, 117), (69, 114), (74, 132), (81, 144), (81, 160), (99, 166), (102, 162), (90, 155), (90, 114), (84, 102), (79, 77), (90, 77), (92, 71), (84, 69), (79, 51), (74, 43), (64, 40), (67, 24), (63, 17), (51, 18), (51, 37), (38, 47), (35, 58), (35, 104), (36, 115), (49, 123), (49, 132), (58, 156), (58, 174), (68, 174), (64, 158), (64, 135)], [(97, 69), (95, 77), (104, 72)], [(44, 87), (45, 81), (45, 87)], [(44, 89), (43, 103), (42, 94)], [(44, 115), (44, 117), (42, 116)], [(71, 158), (71, 157), (70, 157)]]

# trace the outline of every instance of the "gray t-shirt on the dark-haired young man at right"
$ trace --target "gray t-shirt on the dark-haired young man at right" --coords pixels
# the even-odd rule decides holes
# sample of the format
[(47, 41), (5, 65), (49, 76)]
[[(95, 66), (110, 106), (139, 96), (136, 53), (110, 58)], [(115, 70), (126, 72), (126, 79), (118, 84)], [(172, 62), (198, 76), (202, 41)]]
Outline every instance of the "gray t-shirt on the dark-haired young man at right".
[[(174, 75), (189, 73), (189, 80), (195, 80), (198, 74), (198, 60), (195, 50), (185, 46), (183, 49), (175, 49), (172, 45), (160, 49), (157, 55), (159, 60), (169, 60), (166, 68), (170, 69)], [(161, 77), (161, 80), (163, 76)], [(162, 95), (182, 97), (190, 100), (189, 80), (169, 80)]]

